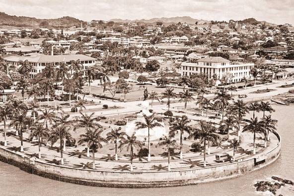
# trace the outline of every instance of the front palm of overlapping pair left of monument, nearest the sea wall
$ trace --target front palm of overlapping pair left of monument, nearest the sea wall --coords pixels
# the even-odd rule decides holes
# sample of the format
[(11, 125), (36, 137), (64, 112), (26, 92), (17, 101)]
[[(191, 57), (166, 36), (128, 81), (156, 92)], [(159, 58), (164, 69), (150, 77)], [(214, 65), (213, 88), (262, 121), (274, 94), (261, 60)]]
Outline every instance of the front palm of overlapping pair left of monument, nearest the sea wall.
[(92, 149), (93, 170), (95, 169), (95, 150), (102, 148), (102, 142), (107, 143), (107, 140), (101, 136), (102, 132), (102, 129), (86, 128), (86, 134), (81, 134), (81, 139), (78, 141), (78, 144), (87, 143)]

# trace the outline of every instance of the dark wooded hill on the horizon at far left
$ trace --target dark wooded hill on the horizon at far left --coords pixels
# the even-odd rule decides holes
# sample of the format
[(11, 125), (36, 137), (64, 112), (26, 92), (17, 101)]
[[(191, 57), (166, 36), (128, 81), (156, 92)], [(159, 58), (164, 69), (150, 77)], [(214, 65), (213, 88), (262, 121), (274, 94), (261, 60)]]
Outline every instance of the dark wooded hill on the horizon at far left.
[(80, 26), (82, 20), (70, 16), (64, 16), (56, 19), (38, 19), (27, 16), (8, 15), (0, 12), (0, 25), (18, 26), (18, 27), (52, 27), (64, 26), (71, 27), (74, 25)]

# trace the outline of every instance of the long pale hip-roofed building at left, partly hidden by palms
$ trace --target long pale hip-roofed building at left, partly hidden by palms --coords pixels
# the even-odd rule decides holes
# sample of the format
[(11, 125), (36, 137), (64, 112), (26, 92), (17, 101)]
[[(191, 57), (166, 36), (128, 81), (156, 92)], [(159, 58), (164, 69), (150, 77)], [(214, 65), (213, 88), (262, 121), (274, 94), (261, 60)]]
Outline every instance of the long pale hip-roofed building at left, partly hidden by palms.
[(66, 63), (71, 65), (71, 61), (79, 60), (82, 64), (82, 70), (87, 69), (89, 66), (95, 65), (95, 58), (81, 55), (81, 54), (72, 54), (72, 55), (44, 55), (44, 54), (32, 54), (30, 56), (8, 56), (4, 60), (8, 65), (18, 66), (19, 61), (25, 61), (33, 66), (32, 72), (30, 73), (34, 77), (38, 73), (42, 73), (46, 65), (53, 63), (55, 66), (59, 66), (59, 63)]

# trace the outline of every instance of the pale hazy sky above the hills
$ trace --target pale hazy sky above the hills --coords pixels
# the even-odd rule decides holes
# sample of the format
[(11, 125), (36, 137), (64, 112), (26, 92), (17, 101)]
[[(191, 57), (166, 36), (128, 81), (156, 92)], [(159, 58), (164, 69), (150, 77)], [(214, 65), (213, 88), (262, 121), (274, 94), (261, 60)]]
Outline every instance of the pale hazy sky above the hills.
[(0, 11), (36, 18), (81, 20), (191, 16), (206, 20), (254, 17), (294, 24), (294, 0), (0, 0)]

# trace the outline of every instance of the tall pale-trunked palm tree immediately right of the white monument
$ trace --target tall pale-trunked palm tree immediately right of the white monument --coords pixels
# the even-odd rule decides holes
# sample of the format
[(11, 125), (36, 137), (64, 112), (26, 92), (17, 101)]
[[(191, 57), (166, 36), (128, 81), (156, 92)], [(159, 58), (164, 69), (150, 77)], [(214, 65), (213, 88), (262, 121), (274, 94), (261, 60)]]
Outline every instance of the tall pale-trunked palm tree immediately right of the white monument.
[(183, 115), (182, 117), (176, 116), (171, 120), (171, 126), (169, 127), (170, 136), (174, 136), (178, 130), (180, 131), (180, 159), (183, 159), (183, 134), (184, 132), (189, 134), (191, 132), (191, 127), (188, 125), (189, 122), (190, 120), (186, 115)]

